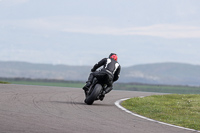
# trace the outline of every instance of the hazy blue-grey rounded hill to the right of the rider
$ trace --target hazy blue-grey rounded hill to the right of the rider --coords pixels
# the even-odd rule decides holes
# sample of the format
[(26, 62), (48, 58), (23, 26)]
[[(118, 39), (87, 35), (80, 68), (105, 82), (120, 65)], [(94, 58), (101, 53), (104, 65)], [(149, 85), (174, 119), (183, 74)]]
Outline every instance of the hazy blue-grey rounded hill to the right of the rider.
[(172, 85), (200, 85), (200, 65), (155, 63), (127, 67), (122, 71), (124, 82)]

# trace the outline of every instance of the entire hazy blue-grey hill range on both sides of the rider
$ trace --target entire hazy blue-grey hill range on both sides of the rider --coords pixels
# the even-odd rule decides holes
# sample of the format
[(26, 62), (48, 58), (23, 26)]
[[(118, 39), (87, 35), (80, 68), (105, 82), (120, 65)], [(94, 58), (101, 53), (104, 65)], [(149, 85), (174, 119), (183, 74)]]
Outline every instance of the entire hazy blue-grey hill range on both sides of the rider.
[[(0, 77), (86, 81), (92, 66), (0, 61)], [(200, 85), (200, 65), (155, 63), (122, 67), (119, 82)]]

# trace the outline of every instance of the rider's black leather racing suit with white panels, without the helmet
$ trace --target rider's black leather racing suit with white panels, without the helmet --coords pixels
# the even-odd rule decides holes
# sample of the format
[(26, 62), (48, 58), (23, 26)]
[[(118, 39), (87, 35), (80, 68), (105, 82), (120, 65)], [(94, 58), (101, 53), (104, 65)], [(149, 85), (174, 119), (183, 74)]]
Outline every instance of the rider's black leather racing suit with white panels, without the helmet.
[[(101, 66), (103, 66), (103, 68), (100, 71), (96, 71), (96, 69)], [(105, 93), (108, 93), (113, 89), (113, 82), (119, 79), (121, 66), (112, 58), (104, 58), (95, 64), (91, 71), (92, 73), (90, 74), (87, 82), (92, 82), (94, 76), (104, 79), (105, 83), (107, 84)]]

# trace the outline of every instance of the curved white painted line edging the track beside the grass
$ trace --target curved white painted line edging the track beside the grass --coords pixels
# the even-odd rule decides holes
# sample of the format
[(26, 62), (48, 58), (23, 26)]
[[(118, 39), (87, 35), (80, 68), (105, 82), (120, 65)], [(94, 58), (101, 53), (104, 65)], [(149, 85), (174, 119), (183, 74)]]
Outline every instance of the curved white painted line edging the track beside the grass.
[(180, 127), (180, 126), (176, 126), (176, 125), (164, 123), (164, 122), (161, 122), (161, 121), (156, 121), (156, 120), (153, 120), (153, 119), (150, 119), (150, 118), (147, 118), (147, 117), (144, 117), (144, 116), (135, 114), (135, 113), (133, 113), (133, 112), (131, 112), (131, 111), (125, 109), (124, 107), (122, 107), (122, 106), (120, 105), (120, 103), (121, 103), (122, 101), (125, 101), (125, 100), (128, 100), (128, 99), (130, 99), (130, 98), (120, 99), (120, 100), (118, 100), (118, 101), (115, 102), (115, 105), (116, 105), (118, 108), (120, 108), (121, 110), (123, 110), (123, 111), (125, 111), (125, 112), (127, 112), (127, 113), (129, 113), (129, 114), (131, 114), (131, 115), (137, 116), (137, 117), (139, 117), (139, 118), (142, 118), (142, 119), (145, 119), (145, 120), (148, 120), (148, 121), (152, 121), (152, 122), (156, 122), (156, 123), (159, 123), (159, 124), (163, 124), (163, 125), (167, 125), (167, 126), (171, 126), (171, 127), (176, 127), (176, 128), (180, 128), (180, 129), (185, 129), (185, 130), (189, 130), (189, 131), (200, 132), (200, 131), (198, 131), (198, 130), (194, 130), (194, 129), (190, 129), (190, 128), (185, 128), (185, 127)]

